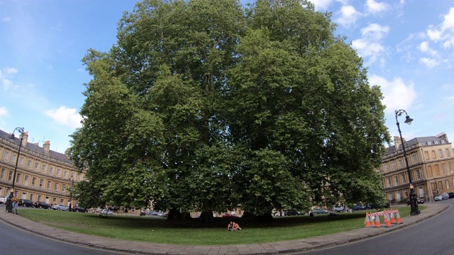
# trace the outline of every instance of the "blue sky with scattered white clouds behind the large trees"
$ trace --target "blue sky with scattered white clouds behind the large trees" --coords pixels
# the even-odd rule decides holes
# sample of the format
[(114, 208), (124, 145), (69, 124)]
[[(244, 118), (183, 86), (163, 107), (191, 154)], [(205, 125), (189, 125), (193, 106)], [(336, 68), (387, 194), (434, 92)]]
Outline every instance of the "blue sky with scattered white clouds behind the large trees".
[[(80, 126), (82, 66), (89, 48), (106, 52), (128, 0), (0, 0), (0, 129), (28, 131), (28, 141), (65, 152)], [(251, 1), (241, 1), (245, 4)], [(395, 110), (414, 123), (404, 137), (445, 132), (454, 141), (454, 2), (314, 0), (333, 13), (336, 35), (364, 59), (370, 84), (380, 85), (386, 125)], [(399, 118), (403, 124), (404, 117)]]

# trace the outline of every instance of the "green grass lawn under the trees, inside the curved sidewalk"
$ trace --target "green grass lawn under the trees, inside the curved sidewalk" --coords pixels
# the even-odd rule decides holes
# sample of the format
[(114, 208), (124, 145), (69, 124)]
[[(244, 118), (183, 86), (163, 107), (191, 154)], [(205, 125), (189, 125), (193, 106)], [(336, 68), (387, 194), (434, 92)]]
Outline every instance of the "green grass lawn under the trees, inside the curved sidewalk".
[[(419, 208), (424, 210), (426, 206)], [(242, 228), (240, 231), (227, 231), (228, 222), (232, 218), (218, 217), (213, 223), (201, 224), (197, 219), (170, 222), (163, 217), (150, 216), (109, 215), (99, 218), (98, 214), (92, 213), (20, 208), (18, 212), (21, 217), (51, 227), (101, 237), (161, 244), (222, 245), (278, 242), (347, 232), (365, 226), (366, 211), (342, 212), (333, 217), (276, 217), (272, 222), (235, 218), (233, 220)], [(410, 207), (400, 207), (399, 214), (401, 217), (409, 216)], [(380, 222), (383, 223), (382, 217)]]

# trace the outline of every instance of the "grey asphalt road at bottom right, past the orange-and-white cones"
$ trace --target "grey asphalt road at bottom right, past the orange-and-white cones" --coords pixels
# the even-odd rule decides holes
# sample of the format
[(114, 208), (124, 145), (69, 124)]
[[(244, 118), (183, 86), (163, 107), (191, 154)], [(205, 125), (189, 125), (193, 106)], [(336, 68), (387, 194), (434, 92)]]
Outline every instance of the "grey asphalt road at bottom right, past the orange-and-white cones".
[[(436, 203), (454, 204), (454, 199)], [(411, 217), (411, 216), (410, 216)], [(453, 255), (454, 241), (454, 209), (450, 208), (436, 217), (418, 225), (399, 231), (367, 239), (353, 244), (335, 246), (331, 249), (307, 251), (296, 254), (311, 255), (394, 255), (394, 254), (424, 254), (424, 255)]]

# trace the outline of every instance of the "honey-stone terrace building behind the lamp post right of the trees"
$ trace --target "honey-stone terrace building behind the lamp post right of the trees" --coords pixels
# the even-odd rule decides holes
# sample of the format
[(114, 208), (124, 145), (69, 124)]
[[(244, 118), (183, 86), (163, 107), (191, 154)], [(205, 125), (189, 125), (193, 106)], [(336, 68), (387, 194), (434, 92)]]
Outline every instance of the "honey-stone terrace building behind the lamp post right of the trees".
[[(404, 144), (417, 198), (433, 201), (437, 194), (454, 192), (454, 153), (444, 132), (404, 140)], [(379, 171), (389, 202), (409, 198), (409, 176), (400, 137), (394, 137), (394, 146), (386, 148)]]

